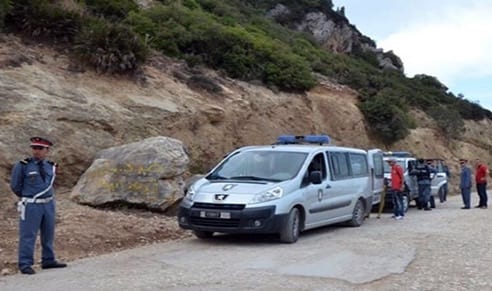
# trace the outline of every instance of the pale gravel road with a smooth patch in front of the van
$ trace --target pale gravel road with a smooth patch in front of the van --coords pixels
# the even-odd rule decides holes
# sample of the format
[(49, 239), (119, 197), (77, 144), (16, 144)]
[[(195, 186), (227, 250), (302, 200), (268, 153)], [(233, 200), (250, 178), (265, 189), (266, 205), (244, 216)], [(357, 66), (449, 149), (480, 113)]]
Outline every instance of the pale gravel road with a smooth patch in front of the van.
[(452, 196), (401, 221), (372, 214), (295, 244), (188, 238), (1, 277), (0, 290), (492, 290), (492, 210), (460, 207)]

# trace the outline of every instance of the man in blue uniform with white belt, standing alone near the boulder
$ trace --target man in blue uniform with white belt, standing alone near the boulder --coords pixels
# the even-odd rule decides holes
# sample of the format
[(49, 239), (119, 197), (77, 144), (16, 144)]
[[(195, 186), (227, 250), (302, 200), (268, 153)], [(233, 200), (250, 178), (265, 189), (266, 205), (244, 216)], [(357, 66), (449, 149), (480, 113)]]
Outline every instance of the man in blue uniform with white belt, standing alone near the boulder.
[(17, 162), (12, 170), (10, 187), (19, 197), (19, 270), (35, 274), (34, 246), (38, 231), (41, 238), (41, 268), (64, 268), (56, 261), (53, 250), (55, 238), (55, 200), (53, 183), (56, 164), (46, 160), (52, 142), (45, 138), (31, 138), (32, 157)]

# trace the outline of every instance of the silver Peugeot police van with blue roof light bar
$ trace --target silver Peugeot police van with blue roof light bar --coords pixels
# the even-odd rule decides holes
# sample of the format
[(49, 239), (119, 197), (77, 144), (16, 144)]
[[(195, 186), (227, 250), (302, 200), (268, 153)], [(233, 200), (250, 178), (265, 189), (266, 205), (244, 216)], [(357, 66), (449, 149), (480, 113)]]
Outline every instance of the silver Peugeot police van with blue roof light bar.
[(227, 155), (187, 190), (180, 227), (214, 233), (275, 233), (296, 242), (308, 229), (360, 226), (383, 190), (382, 151), (329, 145), (328, 136), (280, 136)]

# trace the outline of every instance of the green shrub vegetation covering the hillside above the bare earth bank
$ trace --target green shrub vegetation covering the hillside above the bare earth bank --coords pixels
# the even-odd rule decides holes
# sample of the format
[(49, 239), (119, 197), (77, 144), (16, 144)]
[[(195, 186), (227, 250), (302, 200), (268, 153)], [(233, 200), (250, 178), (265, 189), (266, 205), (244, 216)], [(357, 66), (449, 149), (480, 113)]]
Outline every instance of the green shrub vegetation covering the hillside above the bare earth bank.
[[(293, 11), (289, 18), (265, 16), (278, 3)], [(369, 127), (387, 145), (415, 127), (411, 108), (434, 118), (448, 138), (459, 137), (464, 120), (492, 119), (433, 76), (382, 70), (372, 53), (336, 54), (289, 28), (309, 11), (336, 14), (332, 6), (327, 0), (161, 0), (143, 9), (132, 0), (0, 0), (0, 29), (68, 49), (81, 64), (111, 74), (138, 75), (156, 50), (275, 90), (306, 91), (324, 75), (359, 92)]]

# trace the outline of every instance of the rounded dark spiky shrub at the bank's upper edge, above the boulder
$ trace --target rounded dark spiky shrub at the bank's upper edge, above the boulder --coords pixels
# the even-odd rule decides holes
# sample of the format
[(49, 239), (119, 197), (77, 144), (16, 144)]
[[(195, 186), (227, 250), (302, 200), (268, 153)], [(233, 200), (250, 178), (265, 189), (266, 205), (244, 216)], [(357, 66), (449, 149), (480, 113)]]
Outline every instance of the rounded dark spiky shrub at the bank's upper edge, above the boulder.
[(147, 47), (139, 35), (125, 25), (100, 18), (84, 25), (76, 43), (76, 53), (99, 72), (131, 73), (147, 56)]

